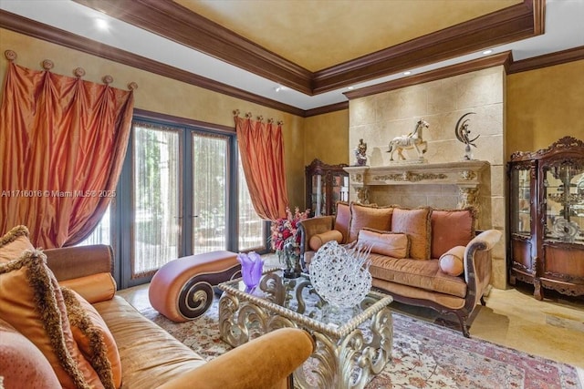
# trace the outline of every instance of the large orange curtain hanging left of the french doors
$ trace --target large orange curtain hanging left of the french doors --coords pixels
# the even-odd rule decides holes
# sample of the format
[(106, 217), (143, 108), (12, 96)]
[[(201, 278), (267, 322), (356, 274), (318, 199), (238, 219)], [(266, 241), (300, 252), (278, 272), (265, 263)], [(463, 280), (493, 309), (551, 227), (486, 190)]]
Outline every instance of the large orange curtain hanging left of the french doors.
[(0, 107), (0, 232), (45, 249), (84, 240), (120, 177), (132, 91), (10, 62)]

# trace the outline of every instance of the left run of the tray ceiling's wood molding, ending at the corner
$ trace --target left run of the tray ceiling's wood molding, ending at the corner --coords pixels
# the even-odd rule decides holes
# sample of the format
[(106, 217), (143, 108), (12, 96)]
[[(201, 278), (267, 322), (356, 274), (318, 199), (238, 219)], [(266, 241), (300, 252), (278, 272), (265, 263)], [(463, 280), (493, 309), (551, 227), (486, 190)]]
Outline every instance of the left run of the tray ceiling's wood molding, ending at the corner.
[(312, 72), (172, 1), (73, 0), (106, 15), (312, 95)]

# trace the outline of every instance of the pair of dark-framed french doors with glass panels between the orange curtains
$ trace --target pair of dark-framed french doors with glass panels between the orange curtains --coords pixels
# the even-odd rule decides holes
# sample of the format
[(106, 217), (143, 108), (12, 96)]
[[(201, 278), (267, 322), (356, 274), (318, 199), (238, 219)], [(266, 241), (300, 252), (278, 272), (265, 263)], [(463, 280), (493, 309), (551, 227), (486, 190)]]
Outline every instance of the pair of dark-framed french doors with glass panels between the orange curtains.
[(139, 121), (132, 130), (130, 279), (226, 250), (232, 138)]

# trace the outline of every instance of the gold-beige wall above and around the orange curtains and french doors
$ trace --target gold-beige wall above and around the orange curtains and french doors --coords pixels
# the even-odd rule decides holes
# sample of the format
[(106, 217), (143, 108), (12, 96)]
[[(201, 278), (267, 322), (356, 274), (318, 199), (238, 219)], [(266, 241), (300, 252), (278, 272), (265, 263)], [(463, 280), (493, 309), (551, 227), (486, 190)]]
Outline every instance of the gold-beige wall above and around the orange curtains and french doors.
[[(283, 120), (290, 205), (304, 203), (304, 192), (297, 190), (304, 186), (304, 118), (0, 29), (0, 52), (7, 49), (16, 51), (16, 64), (23, 67), (40, 70), (41, 62), (51, 59), (56, 74), (72, 76), (73, 69), (83, 67), (86, 70), (83, 78), (88, 81), (101, 82), (101, 77), (110, 75), (114, 79), (112, 87), (123, 89), (134, 81), (138, 84), (134, 92), (136, 108), (229, 127), (235, 126), (234, 109), (242, 114), (249, 111), (254, 116)], [(7, 63), (4, 57), (0, 60), (3, 81)]]

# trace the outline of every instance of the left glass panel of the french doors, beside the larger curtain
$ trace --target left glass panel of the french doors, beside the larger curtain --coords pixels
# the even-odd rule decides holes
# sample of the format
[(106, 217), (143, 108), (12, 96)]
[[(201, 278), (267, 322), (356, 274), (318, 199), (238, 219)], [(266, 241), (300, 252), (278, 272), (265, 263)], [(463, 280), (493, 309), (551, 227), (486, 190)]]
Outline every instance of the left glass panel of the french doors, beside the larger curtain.
[(135, 124), (131, 278), (147, 276), (181, 250), (181, 132)]

